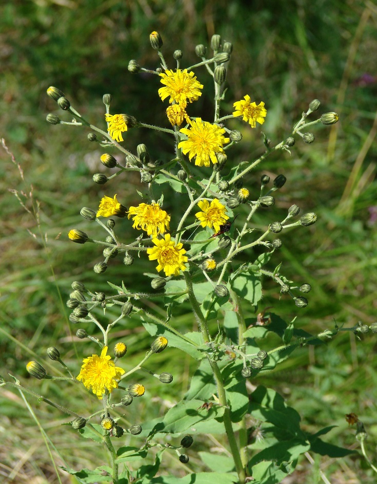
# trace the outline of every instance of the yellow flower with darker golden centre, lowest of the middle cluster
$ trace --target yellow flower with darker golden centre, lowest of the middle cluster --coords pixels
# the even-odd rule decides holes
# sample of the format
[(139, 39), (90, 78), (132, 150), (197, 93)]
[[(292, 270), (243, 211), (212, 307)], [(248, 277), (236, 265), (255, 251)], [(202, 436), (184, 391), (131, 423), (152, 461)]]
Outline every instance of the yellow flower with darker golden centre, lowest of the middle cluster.
[(182, 248), (182, 243), (175, 245), (174, 240), (170, 240), (170, 234), (165, 234), (165, 239), (152, 239), (155, 247), (147, 249), (149, 260), (157, 260), (156, 269), (158, 272), (164, 269), (166, 276), (178, 276), (180, 270), (186, 270), (185, 262), (188, 258), (184, 256), (186, 250)]

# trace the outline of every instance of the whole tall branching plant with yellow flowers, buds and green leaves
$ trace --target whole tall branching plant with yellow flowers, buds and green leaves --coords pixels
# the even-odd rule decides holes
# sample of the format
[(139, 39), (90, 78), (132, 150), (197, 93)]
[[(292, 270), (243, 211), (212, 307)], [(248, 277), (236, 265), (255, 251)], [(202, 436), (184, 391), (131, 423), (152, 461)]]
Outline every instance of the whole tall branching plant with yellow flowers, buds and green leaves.
[[(206, 56), (205, 46), (198, 45), (195, 52), (200, 61), (182, 69), (181, 51), (174, 52), (176, 67), (169, 68), (161, 36), (153, 32), (150, 42), (161, 67), (150, 70), (131, 60), (128, 70), (135, 75), (150, 73), (160, 79), (162, 87), (157, 90), (156, 99), (160, 97), (160, 101), (169, 103), (168, 127), (147, 124), (132, 114), (110, 114), (111, 96), (105, 94), (103, 121), (107, 125), (103, 129), (84, 119), (61, 90), (51, 87), (47, 91), (73, 117), (64, 121), (49, 114), (47, 121), (76, 129), (89, 128), (88, 140), (106, 151), (101, 156), (106, 174), (96, 173), (93, 180), (106, 185), (107, 195), (93, 201), (97, 209), (83, 207), (80, 211), (93, 228), (90, 234), (72, 228), (68, 239), (103, 249), (103, 260), (93, 268), (95, 274), (108, 270), (111, 278), (112, 261), (123, 258), (123, 282), (121, 285), (109, 282), (108, 294), (96, 292), (95, 287), (88, 288), (80, 281), (72, 284), (67, 301), (72, 310), (70, 323), (78, 326), (76, 335), (80, 341), (89, 340), (97, 346), (97, 352), (91, 355), (83, 346), (81, 369), (69, 368), (58, 349), (50, 347), (49, 358), (63, 366), (67, 377), (50, 376), (34, 361), (27, 363), (27, 371), (39, 380), (63, 380), (72, 388), (84, 385), (98, 399), (98, 411), (90, 415), (76, 413), (22, 387), (18, 381), (3, 381), (2, 385), (22, 388), (41, 398), (72, 417), (73, 431), (104, 444), (109, 459), (90, 473), (65, 468), (81, 482), (280, 482), (293, 472), (302, 454), (339, 456), (347, 451), (324, 445), (320, 435), (330, 427), (316, 434), (302, 430), (299, 414), (286, 405), (279, 393), (263, 386), (263, 372), (274, 369), (297, 347), (324, 344), (341, 331), (357, 335), (370, 328), (361, 324), (353, 328), (335, 325), (331, 330), (311, 335), (298, 331), (295, 320), (286, 323), (272, 312), (262, 311), (255, 318), (245, 316), (247, 307), (256, 311), (260, 304), (264, 278), (272, 279), (280, 297), (290, 297), (297, 311), (309, 304), (302, 294), (308, 294), (310, 285), (296, 284), (284, 276), (277, 251), (284, 243), (281, 233), (287, 229), (305, 230), (317, 219), (314, 213), (300, 217), (300, 208), (292, 205), (282, 220), (276, 220), (274, 197), (286, 183), (285, 176), (277, 175), (270, 183), (270, 177), (263, 175), (258, 193), (252, 189), (250, 179), (253, 169), (272, 153), (289, 156), (295, 140), (306, 143), (314, 140), (308, 128), (335, 123), (338, 115), (326, 113), (308, 122), (308, 117), (320, 108), (320, 102), (314, 100), (286, 139), (273, 144), (262, 133), (263, 153), (255, 160), (237, 162), (232, 159), (232, 148), (241, 142), (242, 135), (228, 128), (227, 122), (232, 120), (234, 125), (238, 120), (247, 123), (247, 129), (258, 129), (268, 119), (269, 105), (267, 99), (255, 99), (250, 94), (241, 100), (227, 98), (224, 85), (232, 45), (222, 43), (221, 37), (214, 35), (210, 55)], [(202, 96), (208, 79), (214, 87), (214, 114), (212, 119), (202, 119), (195, 114), (195, 101)], [(232, 113), (221, 113), (225, 99), (228, 106), (229, 102), (233, 105)], [(163, 104), (161, 107), (164, 109)], [(143, 143), (131, 152), (127, 140), (138, 134), (137, 128), (155, 130), (170, 138), (174, 156), (162, 162), (153, 160)], [(140, 190), (132, 200), (126, 199), (118, 180), (128, 172), (140, 173), (140, 183), (147, 187), (147, 194)], [(161, 187), (163, 195), (157, 199), (155, 193)], [(164, 208), (164, 200), (172, 192), (180, 197), (180, 205), (174, 212), (179, 217)], [(256, 229), (252, 224), (254, 214), (267, 210), (271, 214), (270, 223)], [(112, 217), (121, 220), (115, 222)], [(103, 237), (95, 235), (95, 223)], [(80, 222), (77, 224), (80, 227)], [(127, 228), (125, 240), (118, 235), (118, 225)], [(251, 255), (255, 247), (259, 248), (257, 257)], [(132, 290), (127, 273), (139, 258), (150, 264), (153, 273), (151, 280), (150, 273), (145, 276), (143, 292)], [(180, 331), (174, 322), (175, 311), (182, 304), (187, 304), (193, 315), (193, 330), (187, 333)], [(160, 306), (158, 312), (150, 309), (156, 305)], [(112, 321), (108, 321), (106, 307), (112, 308), (112, 314), (117, 311)], [(101, 317), (98, 309), (103, 309)], [(124, 364), (126, 343), (111, 341), (112, 330), (129, 318), (138, 319), (151, 338), (150, 350), (134, 368)], [(279, 346), (268, 347), (269, 333), (279, 336)], [(161, 384), (170, 384), (178, 376), (174, 367), (173, 374), (148, 369), (149, 360), (169, 351), (169, 346), (195, 360), (197, 371), (191, 375), (190, 387), (180, 402), (165, 415), (139, 422), (132, 412), (132, 403), (135, 398), (145, 398), (148, 380), (142, 384), (137, 376), (147, 374)], [(125, 426), (126, 415), (127, 420), (133, 421), (129, 427)], [(195, 435), (214, 432), (225, 435), (228, 447), (228, 454), (221, 457), (221, 470), (216, 456), (208, 454), (205, 463), (211, 472), (200, 472), (200, 468), (197, 471), (190, 463), (188, 476), (182, 479), (160, 475), (165, 452), (175, 454), (177, 462), (188, 464), (190, 451), (186, 449), (195, 447)], [(176, 445), (172, 444), (175, 440)], [(157, 451), (151, 453), (153, 465), (142, 465), (153, 449)]]

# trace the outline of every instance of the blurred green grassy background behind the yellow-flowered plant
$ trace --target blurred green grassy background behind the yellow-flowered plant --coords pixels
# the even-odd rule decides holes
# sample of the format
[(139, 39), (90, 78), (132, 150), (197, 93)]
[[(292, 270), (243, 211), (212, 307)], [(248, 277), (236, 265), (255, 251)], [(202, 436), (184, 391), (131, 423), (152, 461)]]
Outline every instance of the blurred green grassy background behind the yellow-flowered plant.
[[(275, 252), (270, 266), (273, 269), (283, 262), (285, 276), (298, 285), (312, 285), (308, 307), (298, 310), (290, 298), (280, 299), (279, 289), (265, 281), (258, 311), (272, 306), (287, 321), (297, 315), (296, 326), (308, 331), (331, 328), (334, 319), (345, 326), (358, 321), (373, 323), (377, 307), (376, 23), (374, 3), (352, 0), (3, 2), (0, 136), (13, 153), (14, 162), (0, 147), (1, 374), (7, 378), (8, 372), (16, 375), (34, 391), (64, 401), (79, 413), (78, 409), (96, 409), (97, 402), (84, 390), (76, 395), (64, 385), (30, 380), (25, 364), (34, 359), (58, 374), (56, 365), (46, 363), (44, 357), (46, 348), (55, 345), (78, 372), (83, 355), (95, 351), (72, 337), (77, 328), (68, 324), (65, 301), (73, 280), (87, 283), (92, 291), (108, 291), (107, 280), (124, 280), (132, 287), (132, 283), (141, 284), (144, 271), (152, 270), (147, 261), (137, 260), (125, 267), (120, 259), (104, 275), (94, 276), (92, 267), (102, 260), (101, 250), (88, 244), (72, 246), (66, 237), (71, 228), (86, 230), (94, 238), (102, 236), (80, 217), (81, 207), (96, 209), (103, 195), (114, 193), (127, 206), (135, 205), (140, 202), (135, 185), (139, 190), (143, 187), (138, 176), (122, 176), (110, 186), (93, 183), (94, 173), (110, 174), (99, 160), (103, 149), (87, 140), (85, 128), (52, 126), (45, 121), (49, 112), (69, 120), (56, 110), (46, 89), (52, 85), (63, 90), (84, 117), (102, 128), (105, 93), (112, 94), (112, 113), (127, 113), (143, 122), (165, 126), (166, 103), (157, 96), (158, 79), (127, 70), (130, 59), (145, 68), (158, 67), (159, 59), (149, 44), (153, 30), (162, 35), (170, 68), (175, 66), (175, 49), (182, 50), (181, 65), (187, 67), (198, 60), (195, 45), (208, 46), (214, 33), (230, 41), (233, 53), (222, 107), (232, 112), (233, 102), (245, 94), (257, 102), (263, 100), (268, 110), (263, 131), (273, 145), (289, 135), (293, 123), (314, 98), (322, 102), (319, 115), (327, 111), (340, 115), (339, 123), (313, 130), (313, 144), (306, 145), (297, 138), (291, 156), (282, 152), (271, 156), (244, 181), (257, 197), (263, 173), (271, 178), (280, 173), (287, 177), (275, 206), (256, 219), (259, 223), (283, 219), (293, 203), (302, 208), (302, 213), (318, 214), (318, 222), (308, 229), (282, 234), (283, 247)], [(195, 70), (195, 74), (207, 85), (195, 103), (195, 114), (212, 119), (210, 79), (204, 68)], [(231, 151), (234, 162), (252, 161), (263, 153), (260, 128), (251, 130), (239, 121), (229, 126), (243, 134), (242, 142)], [(152, 158), (168, 160), (173, 156), (169, 138), (147, 130), (131, 131), (125, 145), (132, 151), (141, 142), (147, 144)], [(166, 197), (165, 203), (173, 209), (177, 201)], [(33, 215), (37, 206), (39, 228)], [(133, 237), (131, 224), (124, 226), (122, 236)], [(253, 308), (245, 310), (248, 317), (256, 317)], [(181, 330), (190, 330), (193, 324), (190, 314), (180, 315), (175, 323)], [(130, 367), (140, 360), (151, 341), (137, 319), (120, 326), (115, 337), (127, 342)], [(344, 414), (355, 412), (365, 423), (368, 447), (374, 450), (375, 349), (373, 334), (357, 341), (352, 333), (344, 333), (327, 346), (297, 351), (275, 373), (262, 373), (252, 383), (279, 390), (289, 405), (299, 410), (306, 430), (337, 425), (328, 440), (349, 448), (358, 448), (358, 444)], [(174, 374), (173, 386), (161, 389), (161, 385), (148, 382), (148, 397), (133, 409), (131, 424), (139, 423), (136, 415), (141, 420), (146, 415), (161, 415), (179, 400), (194, 363), (171, 349), (158, 357), (156, 367), (183, 371), (182, 375)], [(7, 387), (0, 391), (0, 461), (4, 462), (0, 476), (15, 469), (13, 482), (58, 482), (53, 460), (62, 465), (65, 459), (75, 468), (94, 467), (98, 458), (102, 461), (100, 448), (82, 443), (72, 430), (61, 427), (68, 420), (64, 415), (30, 396), (27, 399), (61, 456), (54, 449), (53, 457), (49, 456), (31, 410), (19, 393)], [(205, 469), (195, 452), (215, 445), (211, 437), (204, 436), (193, 448), (188, 467), (167, 459), (166, 472), (176, 468), (174, 472), (185, 475), (190, 470)], [(341, 461), (323, 458), (313, 466), (303, 461), (295, 471), (295, 482), (317, 482), (319, 467), (333, 482), (375, 482), (357, 456)], [(61, 479), (74, 482), (65, 474)]]

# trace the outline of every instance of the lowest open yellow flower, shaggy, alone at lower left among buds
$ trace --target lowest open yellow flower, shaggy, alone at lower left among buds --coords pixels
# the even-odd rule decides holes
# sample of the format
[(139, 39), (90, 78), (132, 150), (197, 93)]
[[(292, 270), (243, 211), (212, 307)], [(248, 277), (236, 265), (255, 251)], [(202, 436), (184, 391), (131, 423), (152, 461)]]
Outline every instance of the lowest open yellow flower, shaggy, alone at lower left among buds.
[(88, 390), (92, 390), (101, 400), (106, 390), (109, 393), (114, 388), (118, 388), (119, 378), (125, 373), (123, 368), (117, 367), (111, 360), (110, 355), (106, 355), (107, 346), (101, 351), (101, 356), (92, 354), (83, 360), (83, 366), (76, 380), (83, 382)]

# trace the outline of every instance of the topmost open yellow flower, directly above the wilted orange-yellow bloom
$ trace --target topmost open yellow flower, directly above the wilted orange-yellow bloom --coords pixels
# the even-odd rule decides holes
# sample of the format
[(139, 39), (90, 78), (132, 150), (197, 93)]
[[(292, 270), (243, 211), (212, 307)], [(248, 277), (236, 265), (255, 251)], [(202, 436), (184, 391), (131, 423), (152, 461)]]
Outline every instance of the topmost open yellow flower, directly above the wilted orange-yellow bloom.
[(175, 101), (185, 108), (187, 104), (186, 99), (192, 102), (202, 95), (200, 89), (203, 89), (203, 84), (196, 80), (192, 71), (187, 72), (187, 69), (183, 71), (177, 69), (173, 72), (171, 69), (167, 69), (160, 76), (162, 77), (161, 83), (165, 84), (164, 88), (158, 89), (158, 95), (162, 100), (170, 96), (170, 103)]

